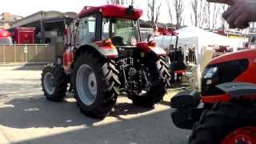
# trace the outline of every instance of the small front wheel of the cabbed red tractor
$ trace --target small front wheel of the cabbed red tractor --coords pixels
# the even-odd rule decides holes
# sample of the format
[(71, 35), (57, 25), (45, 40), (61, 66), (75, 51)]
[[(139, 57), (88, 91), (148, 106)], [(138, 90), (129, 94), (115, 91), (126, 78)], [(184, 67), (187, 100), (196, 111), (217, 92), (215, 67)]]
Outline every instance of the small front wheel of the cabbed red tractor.
[[(50, 88), (46, 87), (49, 86), (49, 82), (46, 80), (47, 75), (52, 76), (51, 81), (54, 82), (54, 90), (50, 90)], [(48, 100), (53, 102), (61, 102), (65, 98), (67, 77), (62, 66), (56, 65), (54, 63), (46, 65), (42, 70), (41, 82), (42, 91)]]

